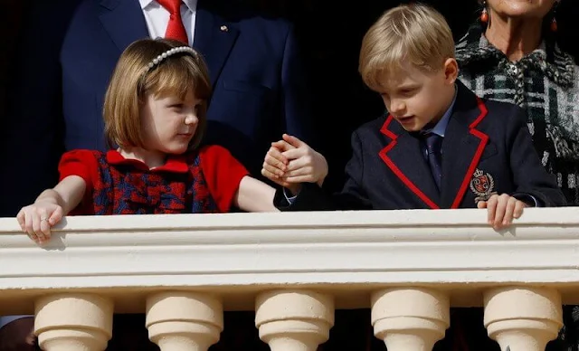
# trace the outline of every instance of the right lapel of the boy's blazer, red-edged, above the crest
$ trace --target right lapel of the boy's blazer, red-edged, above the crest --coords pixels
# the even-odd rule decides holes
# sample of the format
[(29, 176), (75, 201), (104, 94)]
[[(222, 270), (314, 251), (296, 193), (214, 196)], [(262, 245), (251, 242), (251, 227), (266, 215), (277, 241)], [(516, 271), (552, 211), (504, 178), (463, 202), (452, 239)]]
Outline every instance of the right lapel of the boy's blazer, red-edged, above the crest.
[(489, 136), (477, 126), (487, 116), (487, 108), (460, 82), (457, 100), (442, 142), (441, 205), (458, 208), (479, 165)]

